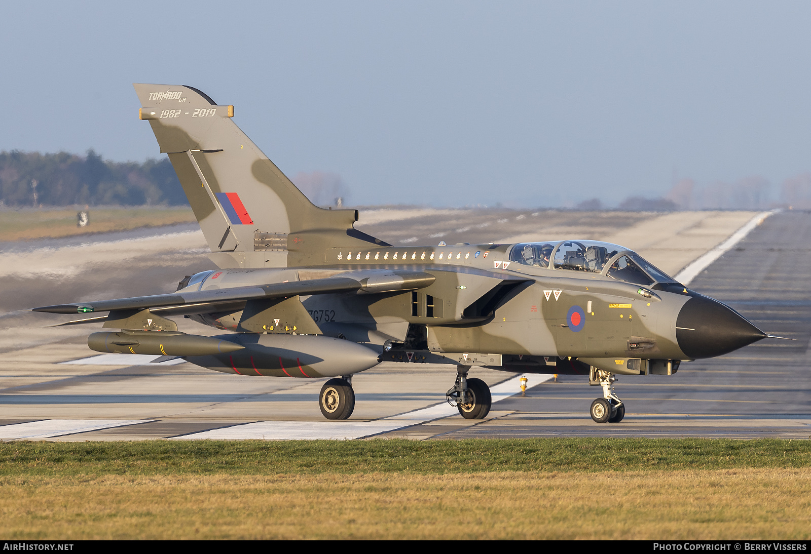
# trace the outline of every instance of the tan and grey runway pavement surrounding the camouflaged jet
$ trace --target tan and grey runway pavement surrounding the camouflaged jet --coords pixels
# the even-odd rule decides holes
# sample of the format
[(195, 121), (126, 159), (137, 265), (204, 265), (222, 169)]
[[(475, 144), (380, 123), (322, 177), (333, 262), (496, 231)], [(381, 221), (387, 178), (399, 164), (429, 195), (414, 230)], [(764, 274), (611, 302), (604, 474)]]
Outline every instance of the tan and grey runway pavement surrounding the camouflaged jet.
[[(683, 219), (692, 224), (682, 224), (670, 237), (667, 225), (678, 224), (678, 214), (648, 215), (614, 234), (625, 233), (621, 242), (643, 254), (645, 245), (651, 252), (666, 252), (671, 247), (668, 241), (678, 235), (683, 248), (677, 254), (690, 262), (753, 215), (713, 214), (687, 212)], [(404, 228), (410, 225), (406, 219)], [(601, 228), (591, 236), (605, 238), (606, 234)], [(54, 303), (67, 301), (64, 292), (57, 298), (60, 292), (54, 287), (73, 286), (73, 279), (79, 279), (75, 283), (79, 298), (124, 296), (107, 292), (130, 291), (131, 286), (137, 289), (131, 293), (164, 292), (155, 290), (156, 279), (166, 288), (188, 268), (211, 265), (197, 233), (180, 237), (182, 244), (167, 243), (157, 251), (157, 238), (124, 238), (122, 244), (131, 245), (134, 254), (119, 252), (118, 265), (109, 275), (100, 271), (103, 262), (93, 258), (96, 250), (104, 254), (109, 247), (69, 250), (74, 245), (54, 254), (59, 260), (73, 257), (70, 275), (29, 273), (26, 280), (10, 274), (11, 290), (19, 292), (19, 297), (6, 296), (4, 305), (11, 311), (0, 317), (5, 324), (5, 339), (0, 343), (0, 439), (811, 436), (806, 353), (811, 338), (811, 215), (807, 213), (772, 215), (691, 283), (691, 288), (727, 302), (763, 330), (799, 340), (768, 339), (728, 356), (682, 364), (671, 377), (620, 376), (616, 393), (628, 406), (620, 424), (590, 420), (587, 411), (600, 389), (588, 386), (582, 377), (545, 381), (521, 397), (513, 395), (519, 393), (517, 374), (485, 369), (473, 369), (471, 376), (496, 386), (500, 400), (487, 420), (463, 420), (444, 403), (455, 368), (428, 364), (380, 364), (356, 375), (353, 386), (358, 403), (352, 419), (329, 422), (317, 405), (324, 380), (241, 377), (187, 363), (105, 359), (96, 357), (84, 343), (97, 326), (42, 329), (50, 321), (42, 314), (13, 311), (15, 305), (41, 297), (54, 298)], [(25, 258), (29, 254), (32, 258)], [(75, 261), (80, 254), (88, 256), (84, 265)], [(17, 263), (32, 259), (37, 268), (49, 263), (39, 251), (15, 249), (12, 255), (19, 257)], [(676, 269), (686, 262), (678, 262)], [(6, 266), (6, 273), (10, 271)], [(41, 288), (45, 283), (49, 286)], [(188, 320), (178, 324), (187, 332), (219, 332)], [(538, 377), (544, 376), (533, 378)]]

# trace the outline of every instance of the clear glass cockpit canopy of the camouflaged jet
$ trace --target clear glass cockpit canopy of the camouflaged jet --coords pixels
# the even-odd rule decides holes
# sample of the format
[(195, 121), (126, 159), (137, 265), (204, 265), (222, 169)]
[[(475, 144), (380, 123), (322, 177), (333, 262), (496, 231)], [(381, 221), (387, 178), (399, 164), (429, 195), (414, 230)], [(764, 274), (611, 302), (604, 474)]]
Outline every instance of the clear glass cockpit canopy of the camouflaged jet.
[[(624, 246), (599, 241), (521, 242), (513, 245), (510, 262), (544, 269), (586, 271), (625, 283), (650, 286), (676, 279)], [(518, 270), (519, 268), (516, 268)]]

